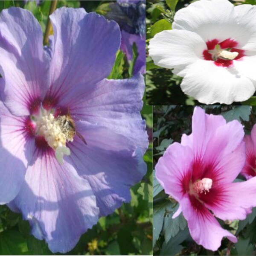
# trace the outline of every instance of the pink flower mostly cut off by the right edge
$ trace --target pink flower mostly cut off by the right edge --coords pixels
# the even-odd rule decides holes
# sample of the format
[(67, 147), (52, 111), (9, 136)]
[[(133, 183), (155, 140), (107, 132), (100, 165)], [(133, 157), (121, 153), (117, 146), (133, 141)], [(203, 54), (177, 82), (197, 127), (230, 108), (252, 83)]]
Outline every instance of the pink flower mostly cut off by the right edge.
[(246, 160), (241, 175), (247, 180), (256, 176), (256, 125), (253, 126), (250, 135), (244, 136)]

